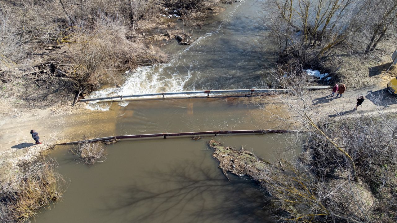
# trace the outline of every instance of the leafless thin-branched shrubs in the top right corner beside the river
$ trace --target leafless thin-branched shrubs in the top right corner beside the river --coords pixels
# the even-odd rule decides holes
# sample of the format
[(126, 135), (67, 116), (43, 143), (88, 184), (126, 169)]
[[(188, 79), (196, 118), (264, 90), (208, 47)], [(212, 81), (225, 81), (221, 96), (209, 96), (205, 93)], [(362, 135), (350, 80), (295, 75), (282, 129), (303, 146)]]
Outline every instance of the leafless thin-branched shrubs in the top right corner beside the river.
[(338, 46), (372, 51), (395, 25), (394, 0), (271, 0), (272, 35), (280, 54), (324, 58)]

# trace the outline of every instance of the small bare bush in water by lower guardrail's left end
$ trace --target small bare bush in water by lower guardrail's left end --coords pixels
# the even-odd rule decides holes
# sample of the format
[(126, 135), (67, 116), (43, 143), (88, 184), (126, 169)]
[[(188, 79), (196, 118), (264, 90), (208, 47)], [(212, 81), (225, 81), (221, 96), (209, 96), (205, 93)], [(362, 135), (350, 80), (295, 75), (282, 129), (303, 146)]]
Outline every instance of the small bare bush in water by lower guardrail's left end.
[(81, 143), (79, 144), (77, 152), (80, 155), (80, 159), (85, 161), (88, 165), (106, 160), (106, 157), (104, 157), (105, 147), (102, 145), (102, 142)]

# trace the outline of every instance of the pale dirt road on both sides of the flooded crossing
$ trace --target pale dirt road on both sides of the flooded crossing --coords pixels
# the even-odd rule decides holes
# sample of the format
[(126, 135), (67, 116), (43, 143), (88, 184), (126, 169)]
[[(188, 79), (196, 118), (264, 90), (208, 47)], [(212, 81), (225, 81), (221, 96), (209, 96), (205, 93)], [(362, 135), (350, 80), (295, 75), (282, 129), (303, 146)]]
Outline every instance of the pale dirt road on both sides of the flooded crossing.
[[(397, 97), (386, 91), (387, 82), (382, 80), (376, 86), (355, 90), (349, 89), (347, 85), (342, 98), (331, 98), (331, 90), (312, 91), (312, 103), (318, 105), (320, 118), (377, 115), (378, 108), (383, 108), (386, 112), (397, 112)], [(356, 99), (361, 95), (365, 97), (365, 101), (354, 112)], [(65, 105), (3, 115), (0, 119), (0, 167), (4, 169), (7, 165), (29, 160), (61, 142), (114, 134), (115, 119), (119, 112), (117, 108), (118, 105), (115, 104), (110, 111), (91, 111), (85, 108), (85, 103), (80, 102), (73, 108)], [(34, 140), (29, 134), (31, 129), (39, 132), (43, 144), (33, 144)]]

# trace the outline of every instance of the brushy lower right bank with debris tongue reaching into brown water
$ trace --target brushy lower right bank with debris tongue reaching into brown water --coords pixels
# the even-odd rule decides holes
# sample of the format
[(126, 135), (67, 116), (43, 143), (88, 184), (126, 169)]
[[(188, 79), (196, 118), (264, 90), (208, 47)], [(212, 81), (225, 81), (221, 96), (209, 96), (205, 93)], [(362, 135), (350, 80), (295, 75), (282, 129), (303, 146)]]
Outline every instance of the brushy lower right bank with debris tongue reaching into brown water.
[[(393, 131), (384, 128), (387, 121)], [(268, 163), (254, 154), (224, 147), (213, 140), (214, 158), (220, 168), (252, 177), (272, 201), (276, 219), (282, 222), (382, 222), (397, 220), (397, 140), (395, 115), (384, 119), (355, 117), (337, 123), (321, 123), (302, 134), (304, 152), (299, 160)], [(329, 142), (332, 138), (353, 158)], [(393, 139), (391, 139), (393, 137)]]

